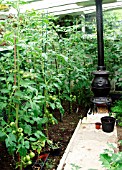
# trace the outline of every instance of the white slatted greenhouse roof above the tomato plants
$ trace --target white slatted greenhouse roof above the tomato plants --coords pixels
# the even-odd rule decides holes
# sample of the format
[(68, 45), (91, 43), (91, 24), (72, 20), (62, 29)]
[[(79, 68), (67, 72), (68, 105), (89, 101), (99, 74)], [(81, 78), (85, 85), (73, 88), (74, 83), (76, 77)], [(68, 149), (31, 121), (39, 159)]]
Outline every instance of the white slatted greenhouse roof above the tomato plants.
[[(87, 14), (96, 11), (95, 0), (25, 0), (27, 4), (22, 5), (21, 12), (26, 10), (40, 10), (53, 15)], [(103, 0), (103, 10), (122, 8), (122, 0)], [(16, 14), (11, 8), (8, 12), (0, 12), (1, 15)]]

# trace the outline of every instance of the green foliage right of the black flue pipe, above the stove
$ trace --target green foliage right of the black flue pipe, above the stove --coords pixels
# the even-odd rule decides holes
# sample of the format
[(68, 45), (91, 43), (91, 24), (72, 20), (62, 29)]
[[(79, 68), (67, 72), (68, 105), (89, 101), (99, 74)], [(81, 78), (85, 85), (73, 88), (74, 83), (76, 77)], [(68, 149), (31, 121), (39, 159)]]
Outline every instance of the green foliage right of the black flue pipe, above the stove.
[(104, 14), (104, 44), (105, 62), (110, 71), (110, 78), (122, 87), (122, 24), (121, 10), (106, 12)]

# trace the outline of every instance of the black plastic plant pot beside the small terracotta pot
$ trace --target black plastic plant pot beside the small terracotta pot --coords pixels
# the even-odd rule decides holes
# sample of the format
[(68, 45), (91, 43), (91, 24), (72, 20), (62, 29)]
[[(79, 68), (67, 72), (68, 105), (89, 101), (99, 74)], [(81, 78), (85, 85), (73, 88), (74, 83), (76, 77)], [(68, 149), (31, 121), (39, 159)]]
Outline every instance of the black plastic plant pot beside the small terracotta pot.
[(115, 118), (110, 116), (105, 116), (101, 118), (102, 130), (104, 132), (110, 133), (114, 130)]

